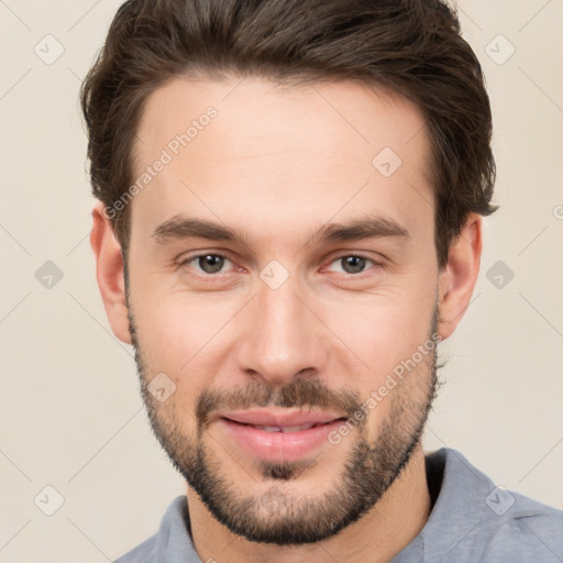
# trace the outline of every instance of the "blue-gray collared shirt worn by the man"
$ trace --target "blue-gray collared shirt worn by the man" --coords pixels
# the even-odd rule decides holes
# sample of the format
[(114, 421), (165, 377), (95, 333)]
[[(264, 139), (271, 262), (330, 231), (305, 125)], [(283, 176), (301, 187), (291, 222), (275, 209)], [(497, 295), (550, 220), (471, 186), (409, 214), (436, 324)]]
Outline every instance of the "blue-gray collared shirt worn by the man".
[[(497, 487), (456, 450), (426, 456), (433, 507), (421, 532), (391, 563), (562, 563), (563, 511)], [(114, 563), (200, 563), (186, 496), (157, 533)]]

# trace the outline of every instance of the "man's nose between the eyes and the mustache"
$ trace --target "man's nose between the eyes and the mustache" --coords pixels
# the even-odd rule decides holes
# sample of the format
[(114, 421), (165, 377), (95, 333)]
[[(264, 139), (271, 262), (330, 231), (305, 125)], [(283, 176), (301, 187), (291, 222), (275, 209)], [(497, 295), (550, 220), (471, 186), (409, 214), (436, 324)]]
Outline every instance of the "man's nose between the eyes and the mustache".
[(327, 329), (291, 277), (272, 289), (258, 282), (245, 310), (238, 345), (244, 373), (284, 387), (296, 376), (318, 374), (327, 362)]

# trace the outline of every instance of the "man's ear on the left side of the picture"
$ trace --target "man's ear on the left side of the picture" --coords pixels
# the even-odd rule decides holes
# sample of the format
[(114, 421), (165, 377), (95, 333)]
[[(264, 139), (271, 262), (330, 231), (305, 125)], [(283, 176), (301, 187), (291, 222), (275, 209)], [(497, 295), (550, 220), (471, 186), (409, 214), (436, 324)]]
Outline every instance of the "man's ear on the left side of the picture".
[(96, 255), (96, 278), (111, 330), (122, 342), (131, 344), (121, 245), (101, 201), (92, 210), (90, 244)]

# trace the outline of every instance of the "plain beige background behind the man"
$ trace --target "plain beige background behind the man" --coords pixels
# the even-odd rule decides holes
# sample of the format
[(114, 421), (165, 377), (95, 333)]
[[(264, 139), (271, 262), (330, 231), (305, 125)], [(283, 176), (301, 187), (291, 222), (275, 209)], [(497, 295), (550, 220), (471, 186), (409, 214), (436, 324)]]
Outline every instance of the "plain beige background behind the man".
[[(151, 434), (132, 350), (109, 329), (87, 239), (77, 93), (119, 4), (0, 0), (2, 562), (111, 561), (184, 490)], [(563, 508), (563, 3), (460, 9), (493, 100), (501, 210), (486, 220), (474, 301), (441, 347), (448, 383), (426, 448), (456, 448)], [(47, 34), (65, 49), (51, 65), (34, 52), (56, 54)], [(63, 273), (52, 288), (35, 277), (46, 261)], [(486, 277), (498, 261), (515, 274), (501, 288)], [(64, 497), (53, 516), (34, 504), (55, 507), (46, 486)]]

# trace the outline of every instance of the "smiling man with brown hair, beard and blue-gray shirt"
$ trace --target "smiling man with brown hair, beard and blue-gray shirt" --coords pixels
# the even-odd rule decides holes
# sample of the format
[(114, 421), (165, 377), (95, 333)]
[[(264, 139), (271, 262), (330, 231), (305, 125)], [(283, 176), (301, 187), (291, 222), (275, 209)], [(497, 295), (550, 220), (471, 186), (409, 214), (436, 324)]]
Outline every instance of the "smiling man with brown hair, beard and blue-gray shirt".
[(563, 515), (424, 455), (495, 164), (438, 0), (132, 0), (82, 87), (91, 244), (186, 479), (119, 562), (563, 561)]

